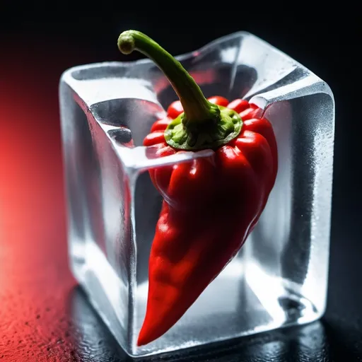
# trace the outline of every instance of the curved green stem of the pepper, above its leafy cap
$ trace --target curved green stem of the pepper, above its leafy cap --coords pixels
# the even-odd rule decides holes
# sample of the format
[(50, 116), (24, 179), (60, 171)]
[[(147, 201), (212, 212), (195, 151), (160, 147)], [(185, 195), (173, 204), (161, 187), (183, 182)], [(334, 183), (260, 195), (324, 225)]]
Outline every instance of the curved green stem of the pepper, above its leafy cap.
[(187, 122), (211, 118), (212, 105), (206, 100), (194, 78), (154, 40), (139, 31), (127, 30), (119, 35), (118, 47), (123, 54), (138, 50), (156, 63), (180, 98)]

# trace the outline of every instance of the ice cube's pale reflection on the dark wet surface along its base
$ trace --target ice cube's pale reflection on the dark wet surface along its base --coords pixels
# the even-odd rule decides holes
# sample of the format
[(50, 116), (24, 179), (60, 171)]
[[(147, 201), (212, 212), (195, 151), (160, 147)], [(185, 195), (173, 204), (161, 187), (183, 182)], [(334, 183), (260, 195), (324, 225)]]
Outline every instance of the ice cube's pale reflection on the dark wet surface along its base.
[[(165, 354), (133, 360), (118, 346), (100, 317), (89, 305), (85, 293), (76, 287), (69, 296), (74, 323), (77, 356), (85, 361), (355, 361), (350, 349), (343, 348), (346, 334), (338, 327), (318, 321), (302, 327), (290, 327), (256, 334), (182, 354)], [(335, 349), (334, 346), (339, 346)], [(83, 361), (83, 359), (82, 359)]]

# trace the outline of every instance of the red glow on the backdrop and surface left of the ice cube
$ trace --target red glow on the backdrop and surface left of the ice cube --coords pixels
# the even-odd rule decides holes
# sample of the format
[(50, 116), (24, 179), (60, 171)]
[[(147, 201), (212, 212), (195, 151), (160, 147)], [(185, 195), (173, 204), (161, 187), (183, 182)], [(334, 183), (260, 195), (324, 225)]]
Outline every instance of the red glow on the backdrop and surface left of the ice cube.
[(73, 361), (58, 110), (69, 65), (32, 47), (0, 61), (0, 358)]

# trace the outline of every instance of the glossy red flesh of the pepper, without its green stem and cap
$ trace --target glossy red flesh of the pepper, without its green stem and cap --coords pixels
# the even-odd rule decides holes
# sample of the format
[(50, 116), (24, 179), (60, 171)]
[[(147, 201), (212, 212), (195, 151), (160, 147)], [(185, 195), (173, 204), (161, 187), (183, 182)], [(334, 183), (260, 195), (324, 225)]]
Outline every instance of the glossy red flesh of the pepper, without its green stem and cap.
[[(162, 336), (200, 296), (245, 242), (262, 213), (276, 179), (277, 148), (271, 124), (255, 118), (246, 100), (209, 100), (239, 112), (239, 136), (216, 149), (214, 158), (150, 170), (163, 206), (151, 247), (148, 302), (138, 344)], [(182, 112), (180, 103), (156, 121), (144, 146), (164, 157), (177, 151), (163, 132)]]

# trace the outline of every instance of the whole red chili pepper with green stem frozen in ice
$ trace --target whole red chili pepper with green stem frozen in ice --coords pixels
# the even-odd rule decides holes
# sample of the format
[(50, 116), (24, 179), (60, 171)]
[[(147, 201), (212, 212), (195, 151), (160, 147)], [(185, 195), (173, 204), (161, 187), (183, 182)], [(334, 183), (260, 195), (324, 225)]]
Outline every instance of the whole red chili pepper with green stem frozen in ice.
[(278, 160), (273, 129), (255, 118), (256, 105), (206, 100), (181, 64), (142, 33), (122, 33), (118, 46), (153, 59), (180, 98), (153, 124), (144, 146), (156, 148), (158, 157), (214, 150), (212, 158), (149, 170), (163, 206), (149, 258), (141, 346), (173, 327), (240, 250), (267, 203)]

